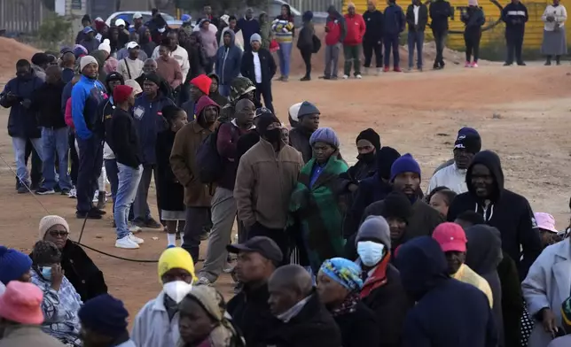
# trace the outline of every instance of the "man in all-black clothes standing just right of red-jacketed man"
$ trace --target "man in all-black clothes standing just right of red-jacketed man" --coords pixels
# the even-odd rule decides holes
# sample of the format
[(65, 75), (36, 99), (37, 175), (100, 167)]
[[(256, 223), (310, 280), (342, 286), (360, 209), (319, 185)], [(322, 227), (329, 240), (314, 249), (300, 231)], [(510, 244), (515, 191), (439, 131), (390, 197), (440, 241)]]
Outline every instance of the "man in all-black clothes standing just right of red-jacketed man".
[(363, 13), (366, 30), (363, 38), (364, 74), (369, 73), (372, 53), (375, 52), (377, 74), (383, 67), (383, 12), (377, 10), (374, 1), (367, 3), (367, 11)]

